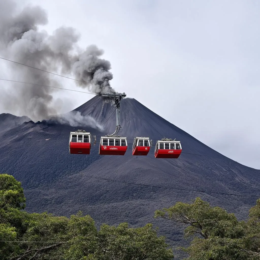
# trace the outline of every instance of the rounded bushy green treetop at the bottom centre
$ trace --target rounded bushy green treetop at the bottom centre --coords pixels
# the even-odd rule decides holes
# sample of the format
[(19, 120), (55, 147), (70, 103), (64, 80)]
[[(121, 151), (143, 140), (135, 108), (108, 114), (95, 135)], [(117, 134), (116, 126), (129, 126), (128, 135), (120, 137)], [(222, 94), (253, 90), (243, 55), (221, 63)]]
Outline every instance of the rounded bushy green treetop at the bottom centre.
[(95, 259), (172, 259), (171, 249), (167, 249), (164, 237), (158, 237), (152, 224), (140, 228), (128, 228), (127, 223), (115, 226), (103, 224), (98, 233), (98, 250)]

